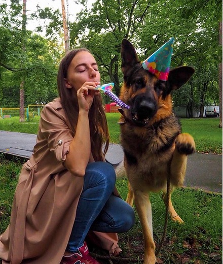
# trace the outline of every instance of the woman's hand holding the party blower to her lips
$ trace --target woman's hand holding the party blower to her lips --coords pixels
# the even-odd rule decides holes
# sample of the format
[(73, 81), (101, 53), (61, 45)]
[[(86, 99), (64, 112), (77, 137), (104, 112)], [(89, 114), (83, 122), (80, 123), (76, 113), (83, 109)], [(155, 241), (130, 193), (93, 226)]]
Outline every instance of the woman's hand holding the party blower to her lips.
[(96, 90), (99, 82), (85, 82), (77, 91), (79, 110), (89, 111), (94, 96), (100, 91)]

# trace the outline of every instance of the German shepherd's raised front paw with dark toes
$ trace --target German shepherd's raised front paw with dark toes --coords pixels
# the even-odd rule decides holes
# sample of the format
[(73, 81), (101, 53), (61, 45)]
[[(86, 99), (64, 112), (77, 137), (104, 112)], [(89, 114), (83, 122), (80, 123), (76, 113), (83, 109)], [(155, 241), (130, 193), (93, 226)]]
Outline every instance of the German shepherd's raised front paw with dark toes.
[(176, 138), (176, 149), (180, 154), (193, 154), (195, 153), (194, 138), (188, 133), (181, 133)]

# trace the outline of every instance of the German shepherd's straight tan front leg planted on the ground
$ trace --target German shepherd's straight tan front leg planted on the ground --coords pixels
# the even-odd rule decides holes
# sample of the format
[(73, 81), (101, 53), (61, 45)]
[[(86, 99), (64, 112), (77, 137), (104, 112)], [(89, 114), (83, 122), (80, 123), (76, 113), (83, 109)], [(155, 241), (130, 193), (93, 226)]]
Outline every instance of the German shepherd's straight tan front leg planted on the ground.
[(152, 208), (147, 192), (134, 191), (135, 207), (141, 222), (144, 237), (144, 262), (143, 264), (155, 264), (155, 243), (153, 240)]

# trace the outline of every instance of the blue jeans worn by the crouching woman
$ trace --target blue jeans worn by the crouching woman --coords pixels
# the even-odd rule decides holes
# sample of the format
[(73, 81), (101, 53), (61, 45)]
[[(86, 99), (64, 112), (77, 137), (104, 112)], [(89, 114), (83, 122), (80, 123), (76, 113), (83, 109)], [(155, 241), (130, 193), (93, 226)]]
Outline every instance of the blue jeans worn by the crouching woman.
[(88, 164), (67, 251), (77, 252), (89, 230), (123, 233), (134, 225), (132, 207), (113, 194), (115, 183), (112, 165), (101, 161)]

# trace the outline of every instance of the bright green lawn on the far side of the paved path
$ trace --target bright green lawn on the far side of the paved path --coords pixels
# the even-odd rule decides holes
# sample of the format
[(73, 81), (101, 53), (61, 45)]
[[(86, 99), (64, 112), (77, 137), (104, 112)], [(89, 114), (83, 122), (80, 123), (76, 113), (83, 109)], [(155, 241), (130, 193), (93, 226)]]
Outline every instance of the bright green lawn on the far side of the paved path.
[[(107, 113), (110, 141), (119, 144), (120, 128), (117, 124), (119, 113)], [(0, 130), (37, 134), (40, 117), (30, 118), (20, 123), (18, 117), (0, 119)], [(196, 151), (222, 154), (222, 128), (218, 128), (219, 118), (180, 119), (182, 131), (190, 133), (196, 143)]]

